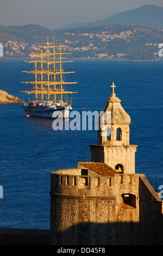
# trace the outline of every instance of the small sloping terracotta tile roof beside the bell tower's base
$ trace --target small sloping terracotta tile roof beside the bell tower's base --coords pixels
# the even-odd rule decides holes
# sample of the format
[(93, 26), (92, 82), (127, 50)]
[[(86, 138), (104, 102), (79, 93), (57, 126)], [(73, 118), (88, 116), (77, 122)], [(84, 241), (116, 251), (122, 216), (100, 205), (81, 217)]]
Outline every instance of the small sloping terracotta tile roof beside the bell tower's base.
[(114, 176), (116, 170), (112, 169), (106, 163), (97, 163), (97, 162), (78, 162), (80, 166), (93, 170), (93, 172), (98, 173), (102, 176)]

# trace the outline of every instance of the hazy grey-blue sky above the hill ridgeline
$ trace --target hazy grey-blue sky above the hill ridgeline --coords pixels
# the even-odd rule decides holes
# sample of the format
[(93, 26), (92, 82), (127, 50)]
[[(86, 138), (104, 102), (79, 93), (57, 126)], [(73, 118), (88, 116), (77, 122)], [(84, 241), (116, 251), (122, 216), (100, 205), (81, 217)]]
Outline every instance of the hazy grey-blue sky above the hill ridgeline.
[(163, 7), (162, 0), (1, 0), (0, 24), (30, 23), (57, 29), (73, 22), (93, 22), (141, 5)]

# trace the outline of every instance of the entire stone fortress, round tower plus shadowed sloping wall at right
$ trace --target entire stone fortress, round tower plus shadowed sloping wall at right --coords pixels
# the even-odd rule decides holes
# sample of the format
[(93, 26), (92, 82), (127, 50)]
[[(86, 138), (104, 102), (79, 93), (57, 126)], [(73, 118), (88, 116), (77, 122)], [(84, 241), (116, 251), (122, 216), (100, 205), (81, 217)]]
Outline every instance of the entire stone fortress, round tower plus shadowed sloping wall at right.
[(162, 201), (143, 174), (52, 172), (52, 245), (162, 244)]

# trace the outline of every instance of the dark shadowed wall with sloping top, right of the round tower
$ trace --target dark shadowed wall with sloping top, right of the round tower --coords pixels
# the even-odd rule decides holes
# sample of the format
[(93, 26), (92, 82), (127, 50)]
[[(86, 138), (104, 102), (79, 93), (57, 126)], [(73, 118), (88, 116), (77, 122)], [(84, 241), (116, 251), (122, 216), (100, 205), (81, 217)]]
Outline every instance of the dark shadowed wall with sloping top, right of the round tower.
[(145, 176), (140, 177), (140, 230), (143, 245), (162, 245), (162, 200)]

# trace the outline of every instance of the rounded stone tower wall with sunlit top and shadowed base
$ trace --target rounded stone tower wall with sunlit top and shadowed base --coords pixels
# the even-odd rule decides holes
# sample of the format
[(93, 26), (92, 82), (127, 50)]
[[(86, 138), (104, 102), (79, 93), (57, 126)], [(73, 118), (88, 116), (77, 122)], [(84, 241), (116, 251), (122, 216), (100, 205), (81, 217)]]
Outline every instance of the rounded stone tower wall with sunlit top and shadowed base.
[[(137, 241), (139, 175), (89, 176), (89, 186), (82, 188), (80, 179), (84, 177), (76, 176), (74, 185), (74, 175), (52, 173), (51, 244), (114, 245)], [(125, 193), (135, 196), (134, 207), (123, 202)]]

